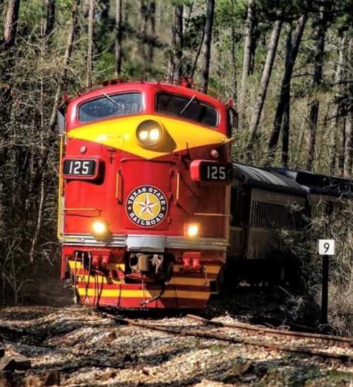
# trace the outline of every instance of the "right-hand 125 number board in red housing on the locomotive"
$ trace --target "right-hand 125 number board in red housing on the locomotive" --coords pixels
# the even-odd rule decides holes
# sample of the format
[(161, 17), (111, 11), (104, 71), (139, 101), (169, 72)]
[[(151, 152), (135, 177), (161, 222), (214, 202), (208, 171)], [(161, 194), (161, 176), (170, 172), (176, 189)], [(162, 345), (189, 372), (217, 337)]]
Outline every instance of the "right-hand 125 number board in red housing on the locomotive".
[(191, 162), (191, 179), (193, 181), (232, 181), (233, 167), (230, 163), (194, 160)]

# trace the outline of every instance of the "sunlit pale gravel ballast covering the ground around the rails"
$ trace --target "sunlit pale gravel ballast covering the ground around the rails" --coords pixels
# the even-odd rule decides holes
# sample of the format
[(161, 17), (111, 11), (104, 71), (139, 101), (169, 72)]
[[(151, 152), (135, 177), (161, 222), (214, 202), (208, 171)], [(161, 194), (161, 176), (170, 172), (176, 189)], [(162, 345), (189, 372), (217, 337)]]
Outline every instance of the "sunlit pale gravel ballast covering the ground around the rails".
[[(236, 328), (205, 327), (186, 317), (150, 319), (146, 313), (132, 318), (259, 339)], [(236, 321), (229, 316), (216, 320)], [(44, 374), (57, 372), (61, 386), (353, 386), (353, 364), (118, 325), (83, 306), (4, 308), (0, 309), (0, 326), (21, 331), (18, 338), (0, 331), (6, 351), (30, 358), (32, 368), (21, 377), (41, 380)], [(261, 339), (353, 356), (353, 349), (315, 340), (270, 335)]]

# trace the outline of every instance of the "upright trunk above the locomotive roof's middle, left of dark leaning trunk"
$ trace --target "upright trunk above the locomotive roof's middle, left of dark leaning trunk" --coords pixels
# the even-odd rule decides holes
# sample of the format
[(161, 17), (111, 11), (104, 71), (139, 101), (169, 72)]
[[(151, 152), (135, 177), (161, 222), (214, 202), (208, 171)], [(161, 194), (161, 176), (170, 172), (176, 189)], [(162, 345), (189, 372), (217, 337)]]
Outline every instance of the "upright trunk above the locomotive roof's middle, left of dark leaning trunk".
[(174, 23), (172, 28), (174, 52), (172, 54), (172, 80), (180, 79), (183, 59), (183, 16), (184, 6), (174, 6)]

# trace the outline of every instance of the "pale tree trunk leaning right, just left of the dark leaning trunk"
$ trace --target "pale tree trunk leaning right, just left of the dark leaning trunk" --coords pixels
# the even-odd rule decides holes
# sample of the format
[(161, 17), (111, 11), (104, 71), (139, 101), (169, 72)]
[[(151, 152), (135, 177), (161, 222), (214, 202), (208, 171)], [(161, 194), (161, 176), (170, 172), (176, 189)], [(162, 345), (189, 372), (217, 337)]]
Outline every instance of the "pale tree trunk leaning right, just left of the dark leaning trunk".
[(251, 120), (251, 126), (250, 126), (251, 138), (248, 144), (249, 151), (251, 151), (251, 149), (253, 148), (253, 142), (256, 141), (256, 132), (258, 129), (258, 124), (260, 122), (263, 105), (265, 103), (266, 93), (268, 90), (268, 83), (270, 82), (270, 77), (273, 69), (273, 61), (275, 60), (275, 55), (277, 52), (278, 40), (280, 40), (281, 28), (282, 28), (282, 21), (277, 20), (273, 25), (273, 32), (270, 40), (270, 47), (268, 47), (265, 66), (263, 67), (263, 73), (261, 75), (260, 91), (258, 92), (255, 112), (253, 113), (253, 118)]

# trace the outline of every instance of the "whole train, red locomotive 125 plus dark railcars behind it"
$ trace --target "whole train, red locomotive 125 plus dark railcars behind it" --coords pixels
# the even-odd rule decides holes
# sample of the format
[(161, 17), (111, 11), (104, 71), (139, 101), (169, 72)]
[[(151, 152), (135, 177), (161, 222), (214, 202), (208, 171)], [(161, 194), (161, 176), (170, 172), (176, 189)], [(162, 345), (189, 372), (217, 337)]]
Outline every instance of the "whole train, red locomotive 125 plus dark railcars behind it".
[(222, 282), (295, 279), (279, 231), (303, 234), (353, 181), (232, 165), (231, 105), (186, 79), (111, 81), (66, 103), (61, 278), (81, 303), (201, 308)]

